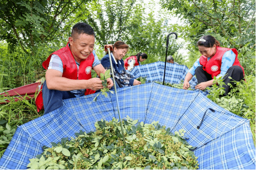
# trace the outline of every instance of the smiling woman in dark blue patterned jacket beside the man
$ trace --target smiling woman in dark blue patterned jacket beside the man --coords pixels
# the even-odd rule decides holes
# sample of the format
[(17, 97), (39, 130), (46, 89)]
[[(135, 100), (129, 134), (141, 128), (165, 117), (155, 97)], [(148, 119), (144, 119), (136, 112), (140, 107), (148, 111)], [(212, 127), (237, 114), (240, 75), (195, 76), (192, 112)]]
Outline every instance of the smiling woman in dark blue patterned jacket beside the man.
[[(129, 46), (127, 44), (125, 44), (123, 41), (115, 42), (115, 44), (113, 45), (113, 48), (110, 48), (111, 61), (112, 61), (112, 65), (113, 65), (115, 80), (116, 80), (117, 84), (119, 85), (119, 87), (134, 86), (134, 85), (141, 84), (141, 82), (134, 79), (133, 75), (130, 75), (124, 69), (124, 61), (122, 58), (127, 53), (128, 49), (129, 49)], [(110, 68), (110, 58), (109, 58), (108, 52), (101, 59), (101, 64), (106, 70), (111, 69)]]

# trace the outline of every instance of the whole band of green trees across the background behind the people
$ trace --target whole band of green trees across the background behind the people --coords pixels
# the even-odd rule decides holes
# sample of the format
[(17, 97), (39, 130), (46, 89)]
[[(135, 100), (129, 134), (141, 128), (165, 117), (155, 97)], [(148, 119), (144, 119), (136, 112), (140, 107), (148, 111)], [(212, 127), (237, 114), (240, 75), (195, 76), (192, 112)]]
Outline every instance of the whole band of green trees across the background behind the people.
[[(164, 61), (167, 35), (176, 32), (188, 44), (189, 56), (184, 59), (183, 54), (177, 53), (185, 46), (172, 37), (168, 55), (191, 67), (200, 55), (196, 41), (204, 34), (211, 34), (222, 46), (238, 49), (242, 65), (251, 67), (255, 58), (254, 0), (160, 2), (162, 9), (155, 13), (153, 0), (146, 3), (143, 0), (1, 0), (0, 40), (7, 42), (10, 52), (19, 46), (32, 56), (44, 47), (40, 52), (44, 60), (66, 45), (75, 23), (87, 22), (95, 29), (100, 57), (105, 44), (122, 40), (130, 46), (128, 55), (146, 52), (150, 56), (145, 64)], [(183, 24), (176, 23), (175, 15)]]

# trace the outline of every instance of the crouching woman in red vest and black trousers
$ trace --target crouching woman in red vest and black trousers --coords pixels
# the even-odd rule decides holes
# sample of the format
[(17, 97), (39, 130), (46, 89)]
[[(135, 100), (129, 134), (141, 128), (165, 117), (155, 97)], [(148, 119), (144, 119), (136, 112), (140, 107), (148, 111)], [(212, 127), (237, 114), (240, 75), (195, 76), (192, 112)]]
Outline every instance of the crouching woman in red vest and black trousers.
[[(244, 78), (244, 70), (238, 61), (237, 50), (235, 48), (219, 47), (219, 41), (211, 35), (202, 36), (197, 41), (197, 46), (202, 55), (187, 73), (183, 89), (190, 87), (189, 81), (194, 75), (196, 75), (198, 82), (195, 88), (200, 90), (212, 86), (214, 76), (217, 78), (221, 76), (226, 84), (224, 85), (225, 93), (223, 96), (227, 95), (230, 91), (228, 83), (234, 87), (234, 81), (240, 82)], [(232, 77), (232, 79), (228, 77)]]

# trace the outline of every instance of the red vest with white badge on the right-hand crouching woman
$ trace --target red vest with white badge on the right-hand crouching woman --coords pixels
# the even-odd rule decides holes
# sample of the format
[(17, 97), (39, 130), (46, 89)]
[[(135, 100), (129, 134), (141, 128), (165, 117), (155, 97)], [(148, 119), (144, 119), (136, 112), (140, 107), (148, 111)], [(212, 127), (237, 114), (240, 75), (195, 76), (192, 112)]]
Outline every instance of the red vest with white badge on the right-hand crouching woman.
[[(207, 73), (212, 75), (213, 77), (219, 75), (220, 73), (220, 67), (221, 67), (221, 60), (222, 56), (226, 53), (226, 51), (232, 50), (235, 54), (235, 60), (233, 66), (240, 66), (243, 70), (243, 67), (240, 65), (240, 62), (237, 58), (238, 52), (235, 48), (223, 48), (223, 47), (216, 47), (217, 51), (214, 54), (214, 56), (207, 61), (207, 57), (204, 55), (201, 55), (199, 62), (203, 66), (203, 70), (205, 70)], [(244, 70), (243, 70), (243, 75), (244, 75)]]

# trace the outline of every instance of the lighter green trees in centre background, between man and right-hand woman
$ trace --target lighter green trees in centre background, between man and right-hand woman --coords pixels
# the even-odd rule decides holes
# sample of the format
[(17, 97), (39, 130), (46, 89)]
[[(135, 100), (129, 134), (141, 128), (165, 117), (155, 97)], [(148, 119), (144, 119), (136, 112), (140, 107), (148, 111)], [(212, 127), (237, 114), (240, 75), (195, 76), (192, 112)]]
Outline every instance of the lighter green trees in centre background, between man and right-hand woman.
[[(170, 19), (164, 13), (156, 20), (154, 12), (147, 14), (146, 5), (138, 2), (139, 0), (95, 0), (86, 8), (86, 15), (82, 20), (94, 28), (100, 48), (105, 44), (124, 41), (130, 47), (127, 57), (142, 52), (148, 55), (143, 64), (165, 61), (167, 35), (176, 31), (177, 25), (168, 24)], [(175, 54), (180, 47), (181, 44), (170, 37), (168, 55)], [(98, 55), (101, 58), (104, 53)]]

